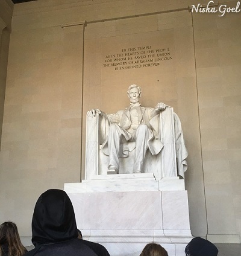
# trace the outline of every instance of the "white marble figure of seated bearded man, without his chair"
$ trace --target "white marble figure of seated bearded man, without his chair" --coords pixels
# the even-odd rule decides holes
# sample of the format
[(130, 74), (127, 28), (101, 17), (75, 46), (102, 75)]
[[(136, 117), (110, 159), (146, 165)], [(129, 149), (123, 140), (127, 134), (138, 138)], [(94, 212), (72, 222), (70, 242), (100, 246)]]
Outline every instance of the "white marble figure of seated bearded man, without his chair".
[(154, 134), (151, 120), (168, 106), (158, 103), (155, 109), (143, 107), (139, 103), (141, 93), (140, 86), (131, 85), (127, 91), (130, 106), (115, 114), (106, 114), (99, 109), (87, 112), (88, 117), (94, 117), (97, 113), (110, 123), (107, 138), (102, 145), (102, 152), (109, 156), (108, 174), (119, 173), (119, 158), (128, 157), (134, 149), (133, 173), (142, 173), (146, 151), (157, 155), (163, 148), (163, 143)]

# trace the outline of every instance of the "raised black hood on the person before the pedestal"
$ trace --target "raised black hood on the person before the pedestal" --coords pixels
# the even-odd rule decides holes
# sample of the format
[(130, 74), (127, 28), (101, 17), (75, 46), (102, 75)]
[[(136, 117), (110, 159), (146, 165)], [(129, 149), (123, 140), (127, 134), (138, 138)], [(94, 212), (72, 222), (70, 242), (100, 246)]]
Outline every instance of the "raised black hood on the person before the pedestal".
[(63, 242), (78, 237), (73, 205), (63, 190), (47, 190), (36, 202), (32, 220), (36, 245)]

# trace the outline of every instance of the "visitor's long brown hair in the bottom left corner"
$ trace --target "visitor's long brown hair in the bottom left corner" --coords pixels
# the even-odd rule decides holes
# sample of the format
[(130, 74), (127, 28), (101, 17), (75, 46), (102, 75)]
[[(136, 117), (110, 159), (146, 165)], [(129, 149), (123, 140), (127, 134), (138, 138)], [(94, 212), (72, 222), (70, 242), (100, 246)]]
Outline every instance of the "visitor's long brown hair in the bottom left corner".
[(26, 250), (20, 241), (15, 223), (4, 222), (0, 226), (0, 256), (3, 255), (2, 245), (8, 246), (9, 256), (22, 256), (25, 254)]

